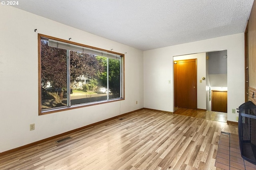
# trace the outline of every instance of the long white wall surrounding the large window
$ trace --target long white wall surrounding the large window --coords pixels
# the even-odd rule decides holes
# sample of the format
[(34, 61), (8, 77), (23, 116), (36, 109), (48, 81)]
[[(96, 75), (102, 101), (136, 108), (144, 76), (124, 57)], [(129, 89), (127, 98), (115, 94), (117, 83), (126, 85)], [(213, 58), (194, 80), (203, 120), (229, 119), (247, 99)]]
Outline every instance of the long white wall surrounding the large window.
[[(0, 152), (143, 107), (142, 51), (10, 6), (0, 16)], [(125, 53), (125, 100), (39, 116), (38, 33)]]

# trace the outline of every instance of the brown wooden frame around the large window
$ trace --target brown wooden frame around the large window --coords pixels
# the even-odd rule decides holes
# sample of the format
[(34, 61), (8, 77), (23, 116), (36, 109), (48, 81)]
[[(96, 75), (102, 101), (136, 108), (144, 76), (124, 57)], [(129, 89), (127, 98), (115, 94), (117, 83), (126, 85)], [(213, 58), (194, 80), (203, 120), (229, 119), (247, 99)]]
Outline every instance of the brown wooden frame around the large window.
[[(115, 98), (115, 99), (107, 99), (107, 100), (102, 100), (102, 101), (98, 101), (98, 102), (92, 102), (92, 103), (85, 103), (85, 104), (79, 104), (79, 105), (73, 105), (73, 106), (63, 106), (63, 107), (55, 107), (49, 110), (42, 110), (42, 97), (41, 97), (41, 39), (42, 38), (47, 38), (47, 39), (53, 39), (56, 41), (62, 41), (64, 43), (69, 43), (72, 45), (78, 45), (81, 47), (86, 47), (86, 48), (90, 48), (90, 49), (95, 49), (95, 50), (99, 50), (99, 51), (104, 51), (107, 53), (112, 53), (112, 54), (116, 54), (116, 55), (120, 55), (121, 58), (121, 69), (120, 69), (120, 77), (121, 77), (121, 81), (120, 81), (120, 88), (121, 88), (121, 96), (120, 98)], [(70, 74), (67, 71), (67, 74)], [(64, 39), (59, 39), (56, 37), (52, 37), (52, 36), (48, 36), (48, 35), (43, 35), (38, 33), (38, 115), (45, 115), (45, 114), (49, 114), (49, 113), (56, 113), (59, 111), (65, 111), (65, 110), (70, 110), (70, 109), (76, 109), (76, 108), (81, 108), (81, 107), (88, 107), (88, 106), (94, 106), (94, 105), (98, 105), (98, 104), (106, 104), (106, 103), (110, 103), (110, 102), (116, 102), (116, 101), (120, 101), (120, 100), (124, 100), (124, 54), (121, 53), (116, 53), (114, 51), (108, 51), (105, 49), (100, 49), (97, 47), (92, 47), (92, 46), (88, 46), (88, 45), (84, 45), (84, 44), (80, 44), (80, 43), (75, 43), (72, 41), (68, 41), (68, 40), (64, 40)]]

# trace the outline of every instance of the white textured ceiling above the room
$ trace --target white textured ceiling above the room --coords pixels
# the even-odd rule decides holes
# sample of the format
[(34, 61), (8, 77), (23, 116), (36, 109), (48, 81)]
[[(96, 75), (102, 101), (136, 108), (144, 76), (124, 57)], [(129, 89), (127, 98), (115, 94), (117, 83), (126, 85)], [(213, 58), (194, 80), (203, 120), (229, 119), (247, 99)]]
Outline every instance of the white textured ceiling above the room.
[(242, 33), (253, 0), (22, 0), (16, 8), (135, 47)]

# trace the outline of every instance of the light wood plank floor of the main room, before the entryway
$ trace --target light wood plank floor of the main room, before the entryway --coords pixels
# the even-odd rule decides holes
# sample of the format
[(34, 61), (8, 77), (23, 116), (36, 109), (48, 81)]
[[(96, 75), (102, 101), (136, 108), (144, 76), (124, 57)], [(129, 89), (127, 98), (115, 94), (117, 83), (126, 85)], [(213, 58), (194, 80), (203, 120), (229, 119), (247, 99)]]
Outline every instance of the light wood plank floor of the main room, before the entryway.
[[(237, 125), (142, 109), (0, 156), (0, 169), (215, 170), (220, 132)], [(66, 136), (65, 136), (66, 137)]]

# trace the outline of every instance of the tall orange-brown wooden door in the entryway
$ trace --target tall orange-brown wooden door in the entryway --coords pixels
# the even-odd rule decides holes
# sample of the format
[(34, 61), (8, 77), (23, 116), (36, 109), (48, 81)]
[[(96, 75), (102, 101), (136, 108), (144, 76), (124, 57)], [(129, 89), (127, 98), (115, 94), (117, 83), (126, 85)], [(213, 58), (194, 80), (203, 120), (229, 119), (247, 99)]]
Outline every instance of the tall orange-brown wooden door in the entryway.
[(174, 106), (197, 109), (196, 59), (174, 62)]

